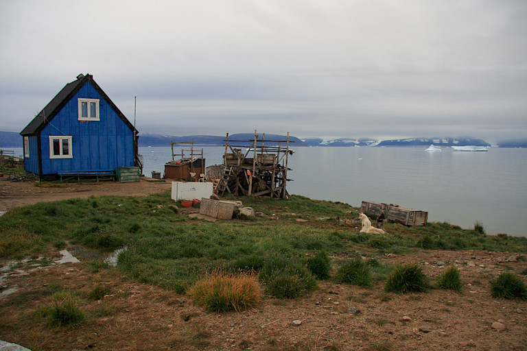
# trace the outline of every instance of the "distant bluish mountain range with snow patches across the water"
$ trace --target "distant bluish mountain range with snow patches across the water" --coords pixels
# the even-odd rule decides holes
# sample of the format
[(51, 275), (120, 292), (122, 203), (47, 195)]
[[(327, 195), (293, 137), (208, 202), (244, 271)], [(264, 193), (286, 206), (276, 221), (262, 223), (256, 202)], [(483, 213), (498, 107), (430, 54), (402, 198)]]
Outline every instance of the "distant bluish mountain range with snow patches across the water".
[[(229, 141), (231, 144), (238, 146), (249, 146), (251, 141), (255, 138), (253, 133), (239, 133), (229, 135)], [(188, 135), (188, 136), (171, 136), (164, 134), (151, 134), (144, 133), (139, 134), (139, 146), (168, 146), (169, 143), (182, 143), (191, 142), (194, 139), (196, 145), (209, 145), (209, 146), (223, 146), (225, 145), (225, 136), (213, 136), (213, 135)], [(259, 140), (261, 140), (261, 134), (259, 134)], [(265, 134), (265, 144), (270, 146), (285, 145), (286, 136), (278, 134)], [(406, 139), (392, 139), (392, 140), (376, 140), (373, 138), (305, 138), (300, 139), (296, 136), (289, 137), (290, 146), (317, 146), (317, 147), (423, 147), (430, 146), (432, 144), (439, 147), (450, 147), (450, 146), (465, 146), (465, 145), (477, 145), (477, 146), (491, 146), (482, 139), (471, 138), (468, 136), (462, 136), (459, 138), (406, 138)], [(22, 136), (16, 132), (1, 132), (0, 131), (0, 147), (23, 147)], [(527, 138), (500, 141), (497, 143), (497, 147), (527, 147)]]

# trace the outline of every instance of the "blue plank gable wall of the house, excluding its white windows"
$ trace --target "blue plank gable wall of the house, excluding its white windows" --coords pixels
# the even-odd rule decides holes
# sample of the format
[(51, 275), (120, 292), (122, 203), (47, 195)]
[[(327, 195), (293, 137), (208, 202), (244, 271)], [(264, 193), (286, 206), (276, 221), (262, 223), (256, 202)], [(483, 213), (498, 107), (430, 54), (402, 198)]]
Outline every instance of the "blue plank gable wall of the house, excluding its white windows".
[[(78, 98), (99, 99), (100, 121), (78, 120)], [(73, 158), (49, 158), (49, 136), (72, 136)], [(134, 165), (133, 132), (90, 83), (40, 132), (43, 174)]]

